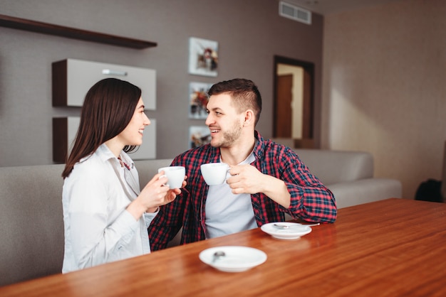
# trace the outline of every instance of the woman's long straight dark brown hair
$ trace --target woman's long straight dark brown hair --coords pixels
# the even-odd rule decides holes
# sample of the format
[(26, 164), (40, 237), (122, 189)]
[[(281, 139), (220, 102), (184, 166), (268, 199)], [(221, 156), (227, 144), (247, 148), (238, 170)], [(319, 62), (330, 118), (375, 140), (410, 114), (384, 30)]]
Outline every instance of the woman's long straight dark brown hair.
[[(139, 87), (115, 78), (100, 80), (88, 90), (73, 149), (63, 169), (63, 178), (70, 175), (74, 165), (82, 158), (125, 129), (140, 97)], [(125, 146), (124, 151), (132, 151), (134, 148)]]

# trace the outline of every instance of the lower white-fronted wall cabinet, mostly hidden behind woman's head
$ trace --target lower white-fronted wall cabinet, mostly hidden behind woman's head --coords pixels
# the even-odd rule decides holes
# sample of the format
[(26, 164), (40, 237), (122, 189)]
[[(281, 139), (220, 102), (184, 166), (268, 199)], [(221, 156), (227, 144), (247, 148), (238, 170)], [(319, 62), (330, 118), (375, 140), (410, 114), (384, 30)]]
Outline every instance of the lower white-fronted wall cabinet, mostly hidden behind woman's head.
[[(53, 161), (65, 163), (68, 153), (76, 138), (80, 117), (53, 118)], [(138, 151), (129, 153), (133, 160), (156, 158), (156, 119), (150, 119), (150, 125), (145, 127), (142, 145)]]

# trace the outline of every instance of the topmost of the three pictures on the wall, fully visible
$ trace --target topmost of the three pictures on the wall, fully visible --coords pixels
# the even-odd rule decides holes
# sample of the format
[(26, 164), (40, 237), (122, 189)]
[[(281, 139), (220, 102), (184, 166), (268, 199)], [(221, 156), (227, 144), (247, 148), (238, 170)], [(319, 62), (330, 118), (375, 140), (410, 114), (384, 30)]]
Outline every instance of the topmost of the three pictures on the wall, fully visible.
[(217, 76), (218, 43), (202, 38), (189, 38), (189, 73)]

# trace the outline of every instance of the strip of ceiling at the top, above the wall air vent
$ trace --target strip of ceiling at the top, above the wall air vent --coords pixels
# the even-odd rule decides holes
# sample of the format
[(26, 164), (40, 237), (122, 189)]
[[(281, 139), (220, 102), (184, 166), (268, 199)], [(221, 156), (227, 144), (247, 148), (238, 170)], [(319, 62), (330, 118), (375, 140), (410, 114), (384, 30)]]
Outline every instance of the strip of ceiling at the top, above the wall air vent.
[(283, 0), (314, 13), (327, 15), (353, 9), (362, 9), (368, 6), (377, 6), (400, 0)]

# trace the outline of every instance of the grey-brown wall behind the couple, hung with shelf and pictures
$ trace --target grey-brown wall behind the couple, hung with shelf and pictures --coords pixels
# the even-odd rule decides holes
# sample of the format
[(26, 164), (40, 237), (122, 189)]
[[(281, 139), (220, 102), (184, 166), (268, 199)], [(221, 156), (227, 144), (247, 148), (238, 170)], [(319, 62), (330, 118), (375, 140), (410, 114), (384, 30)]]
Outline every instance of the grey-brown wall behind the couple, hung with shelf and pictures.
[[(313, 24), (282, 18), (278, 0), (0, 0), (0, 13), (61, 26), (157, 42), (133, 50), (0, 27), (0, 166), (50, 164), (53, 117), (80, 108), (51, 106), (51, 63), (66, 58), (157, 70), (157, 158), (188, 148), (190, 82), (234, 77), (254, 80), (264, 98), (257, 129), (272, 136), (273, 56), (316, 65), (316, 109), (321, 102), (323, 17)], [(190, 37), (219, 42), (217, 77), (187, 72)], [(316, 114), (316, 120), (318, 120)], [(316, 121), (318, 122), (318, 121)], [(316, 131), (316, 133), (318, 133)]]

